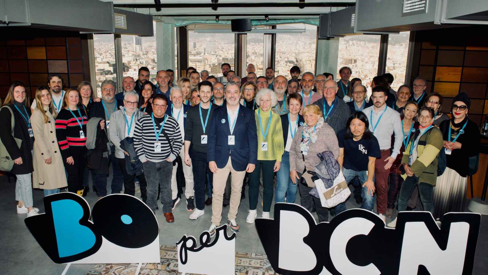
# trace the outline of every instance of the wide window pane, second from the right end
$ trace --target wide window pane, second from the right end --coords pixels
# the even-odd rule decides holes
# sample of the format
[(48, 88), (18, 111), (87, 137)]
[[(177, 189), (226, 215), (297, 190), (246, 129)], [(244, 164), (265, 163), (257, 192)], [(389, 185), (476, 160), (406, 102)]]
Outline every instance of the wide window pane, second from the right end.
[[(335, 80), (341, 79), (339, 69), (343, 66), (351, 68), (351, 78), (360, 78), (367, 89), (367, 97), (371, 95), (371, 81), (378, 74), (378, 58), (380, 55), (379, 35), (351, 35), (339, 39), (339, 60)], [(349, 80), (350, 80), (349, 79)]]

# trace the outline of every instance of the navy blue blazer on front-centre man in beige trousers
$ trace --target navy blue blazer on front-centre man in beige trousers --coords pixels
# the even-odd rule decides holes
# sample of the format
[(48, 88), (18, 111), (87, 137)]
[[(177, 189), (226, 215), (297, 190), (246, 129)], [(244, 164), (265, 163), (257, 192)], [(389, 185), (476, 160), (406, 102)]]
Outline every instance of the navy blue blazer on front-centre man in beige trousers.
[(244, 106), (239, 107), (236, 126), (234, 127), (235, 145), (228, 145), (231, 135), (227, 121), (227, 107), (214, 110), (208, 128), (207, 161), (215, 161), (222, 169), (230, 160), (232, 168), (244, 171), (247, 164), (256, 164), (258, 159), (258, 135), (254, 112)]

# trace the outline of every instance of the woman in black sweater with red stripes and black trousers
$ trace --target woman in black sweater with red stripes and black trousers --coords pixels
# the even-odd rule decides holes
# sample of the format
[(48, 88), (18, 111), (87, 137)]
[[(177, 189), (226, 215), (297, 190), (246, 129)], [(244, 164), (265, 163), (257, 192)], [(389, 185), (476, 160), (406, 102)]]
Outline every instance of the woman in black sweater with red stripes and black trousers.
[[(80, 92), (70, 88), (56, 117), (56, 138), (61, 149), (64, 168), (68, 172), (68, 191), (83, 195), (83, 171), (86, 162), (86, 124), (88, 118), (81, 108)], [(54, 141), (53, 141), (54, 142)]]

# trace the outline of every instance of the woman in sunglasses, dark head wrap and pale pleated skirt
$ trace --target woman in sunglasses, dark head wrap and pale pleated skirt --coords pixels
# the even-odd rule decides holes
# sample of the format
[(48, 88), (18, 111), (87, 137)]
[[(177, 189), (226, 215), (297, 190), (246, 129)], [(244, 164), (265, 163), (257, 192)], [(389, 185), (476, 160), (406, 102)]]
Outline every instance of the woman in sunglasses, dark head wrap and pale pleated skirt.
[[(427, 101), (427, 100), (426, 100)], [(450, 120), (445, 120), (439, 128), (443, 133), (447, 167), (437, 177), (434, 188), (434, 217), (439, 219), (447, 212), (462, 212), (466, 201), (468, 180), (468, 159), (480, 151), (480, 129), (468, 119), (471, 101), (464, 92), (452, 100)]]

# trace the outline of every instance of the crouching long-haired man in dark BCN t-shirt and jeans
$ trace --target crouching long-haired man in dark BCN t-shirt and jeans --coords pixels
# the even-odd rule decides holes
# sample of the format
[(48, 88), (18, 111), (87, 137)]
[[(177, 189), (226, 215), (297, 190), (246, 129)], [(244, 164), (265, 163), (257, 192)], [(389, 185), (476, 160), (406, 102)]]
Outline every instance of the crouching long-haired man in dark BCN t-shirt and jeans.
[(352, 113), (347, 119), (346, 128), (337, 133), (339, 158), (346, 182), (358, 176), (362, 184), (362, 209), (373, 211), (374, 201), (374, 164), (381, 158), (380, 145), (369, 131), (369, 122), (361, 112)]

